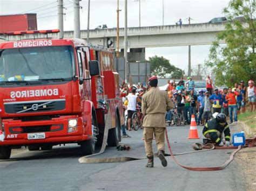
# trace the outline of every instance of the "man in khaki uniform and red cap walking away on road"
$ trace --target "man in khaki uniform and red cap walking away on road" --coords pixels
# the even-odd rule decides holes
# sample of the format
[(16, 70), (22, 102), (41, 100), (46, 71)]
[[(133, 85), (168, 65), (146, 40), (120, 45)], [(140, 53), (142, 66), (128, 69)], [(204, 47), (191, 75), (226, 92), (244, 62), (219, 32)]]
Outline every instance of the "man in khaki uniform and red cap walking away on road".
[(164, 136), (165, 136), (165, 114), (166, 110), (173, 108), (173, 103), (169, 99), (166, 91), (160, 91), (157, 89), (157, 77), (153, 76), (149, 79), (150, 90), (142, 97), (142, 112), (144, 114), (143, 119), (143, 137), (145, 143), (145, 150), (147, 156), (146, 167), (153, 167), (153, 150), (152, 139), (153, 134), (156, 138), (158, 157), (161, 160), (161, 164), (166, 167), (167, 161), (164, 157)]

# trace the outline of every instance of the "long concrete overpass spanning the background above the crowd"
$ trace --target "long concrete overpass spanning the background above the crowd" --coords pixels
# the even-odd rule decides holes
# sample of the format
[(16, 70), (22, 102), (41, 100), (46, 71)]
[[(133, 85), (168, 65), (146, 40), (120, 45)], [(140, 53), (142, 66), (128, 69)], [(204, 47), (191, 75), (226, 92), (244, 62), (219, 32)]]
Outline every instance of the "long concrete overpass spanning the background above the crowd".
[[(216, 34), (225, 29), (223, 23), (201, 23), (190, 25), (165, 25), (130, 27), (127, 30), (129, 48), (147, 47), (168, 47), (168, 46), (187, 46), (187, 45), (210, 45), (215, 39)], [(64, 38), (73, 38), (73, 31), (65, 31)], [(107, 40), (112, 40), (112, 47), (116, 47), (117, 30), (96, 29), (90, 30), (90, 43), (93, 45), (106, 46)], [(124, 29), (119, 31), (119, 47), (124, 46)], [(9, 36), (8, 40), (20, 40), (26, 38), (44, 38), (44, 34), (28, 34), (24, 36)], [(57, 38), (57, 34), (48, 34), (48, 37)], [(81, 31), (81, 38), (86, 39), (87, 31)]]

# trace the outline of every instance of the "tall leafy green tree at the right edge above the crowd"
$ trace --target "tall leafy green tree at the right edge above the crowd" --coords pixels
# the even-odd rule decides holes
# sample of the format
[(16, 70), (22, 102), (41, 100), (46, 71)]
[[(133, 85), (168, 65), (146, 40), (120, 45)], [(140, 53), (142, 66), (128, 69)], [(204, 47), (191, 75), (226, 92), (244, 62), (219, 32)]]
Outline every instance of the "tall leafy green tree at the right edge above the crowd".
[[(240, 80), (255, 80), (255, 0), (231, 0), (224, 13), (228, 22), (211, 45), (206, 65), (212, 67), (218, 85), (232, 86)], [(226, 45), (220, 45), (221, 41)]]

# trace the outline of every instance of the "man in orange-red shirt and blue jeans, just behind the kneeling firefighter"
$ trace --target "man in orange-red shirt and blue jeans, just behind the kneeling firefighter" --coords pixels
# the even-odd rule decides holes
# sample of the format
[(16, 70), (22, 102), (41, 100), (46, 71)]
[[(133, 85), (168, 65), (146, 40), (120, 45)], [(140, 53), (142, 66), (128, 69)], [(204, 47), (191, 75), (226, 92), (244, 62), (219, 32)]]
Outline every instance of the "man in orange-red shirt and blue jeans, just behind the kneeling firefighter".
[(237, 100), (235, 96), (239, 95), (237, 91), (232, 91), (232, 88), (228, 88), (228, 93), (226, 95), (226, 101), (228, 103), (228, 114), (230, 116), (230, 122), (233, 123), (233, 112), (234, 121), (237, 122)]

